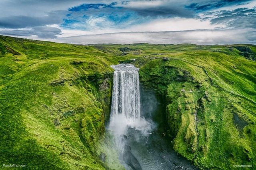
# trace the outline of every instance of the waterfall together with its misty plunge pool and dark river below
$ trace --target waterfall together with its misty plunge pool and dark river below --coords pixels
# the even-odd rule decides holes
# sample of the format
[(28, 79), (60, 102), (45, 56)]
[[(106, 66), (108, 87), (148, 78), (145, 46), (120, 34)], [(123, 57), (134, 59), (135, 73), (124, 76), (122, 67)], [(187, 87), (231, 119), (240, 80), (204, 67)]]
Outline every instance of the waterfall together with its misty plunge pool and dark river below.
[(114, 135), (120, 162), (127, 170), (196, 169), (170, 147), (158, 128), (163, 107), (154, 91), (139, 85), (138, 68), (131, 64), (115, 69), (108, 129)]

